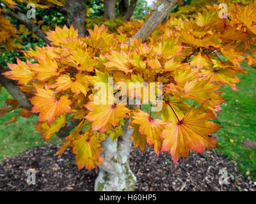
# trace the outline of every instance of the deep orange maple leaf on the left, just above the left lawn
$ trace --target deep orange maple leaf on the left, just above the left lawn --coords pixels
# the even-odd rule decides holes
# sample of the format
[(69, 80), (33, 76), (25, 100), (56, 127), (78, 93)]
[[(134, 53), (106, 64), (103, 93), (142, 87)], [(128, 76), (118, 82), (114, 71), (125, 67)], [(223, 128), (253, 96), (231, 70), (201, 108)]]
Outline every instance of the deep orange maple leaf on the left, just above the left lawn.
[(54, 91), (40, 87), (36, 87), (36, 92), (36, 96), (29, 100), (34, 105), (31, 112), (40, 113), (39, 122), (47, 121), (50, 126), (56, 117), (60, 117), (63, 113), (72, 112), (70, 108), (72, 101), (68, 99), (68, 96), (57, 98)]

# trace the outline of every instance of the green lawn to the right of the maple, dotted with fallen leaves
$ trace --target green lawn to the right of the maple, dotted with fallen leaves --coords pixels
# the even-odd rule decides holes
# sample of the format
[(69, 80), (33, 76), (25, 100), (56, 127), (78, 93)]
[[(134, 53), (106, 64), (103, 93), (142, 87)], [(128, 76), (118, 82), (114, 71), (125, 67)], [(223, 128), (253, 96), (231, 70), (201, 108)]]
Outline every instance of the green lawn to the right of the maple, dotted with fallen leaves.
[[(246, 64), (242, 64), (246, 68)], [(249, 68), (249, 67), (248, 67)], [(242, 82), (237, 84), (239, 91), (233, 91), (227, 85), (221, 87), (222, 96), (228, 99), (221, 105), (215, 122), (223, 126), (216, 135), (220, 152), (239, 163), (242, 173), (249, 173), (256, 179), (256, 148), (244, 149), (241, 142), (246, 138), (256, 141), (256, 70), (248, 75), (237, 75)]]

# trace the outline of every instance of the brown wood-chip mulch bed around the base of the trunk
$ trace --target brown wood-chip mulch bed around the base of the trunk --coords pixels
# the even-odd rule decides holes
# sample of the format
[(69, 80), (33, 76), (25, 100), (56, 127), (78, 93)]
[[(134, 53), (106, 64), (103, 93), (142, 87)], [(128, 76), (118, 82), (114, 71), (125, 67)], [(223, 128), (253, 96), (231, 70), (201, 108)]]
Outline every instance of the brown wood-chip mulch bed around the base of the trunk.
[[(77, 170), (69, 148), (61, 159), (57, 146), (35, 147), (0, 164), (0, 191), (93, 191), (99, 170)], [(256, 182), (246, 179), (234, 164), (214, 150), (191, 152), (175, 166), (170, 154), (156, 157), (154, 149), (143, 154), (132, 149), (130, 165), (137, 177), (136, 191), (256, 191)], [(34, 168), (36, 184), (28, 185), (26, 171)], [(227, 168), (229, 184), (219, 184), (221, 168)]]

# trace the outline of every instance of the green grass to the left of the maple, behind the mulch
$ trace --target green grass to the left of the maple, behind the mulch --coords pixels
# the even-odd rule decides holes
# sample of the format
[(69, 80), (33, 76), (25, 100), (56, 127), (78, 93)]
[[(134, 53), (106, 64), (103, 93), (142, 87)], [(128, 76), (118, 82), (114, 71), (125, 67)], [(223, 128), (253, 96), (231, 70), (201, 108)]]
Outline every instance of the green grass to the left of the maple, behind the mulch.
[[(3, 87), (1, 87), (0, 97), (0, 106), (5, 105), (4, 102), (6, 99), (12, 98)], [(37, 122), (36, 115), (29, 117), (29, 119), (19, 117), (16, 122), (3, 126), (17, 112), (19, 110), (0, 117), (0, 161), (4, 157), (17, 156), (26, 149), (32, 149), (33, 147), (47, 143), (41, 140), (42, 136), (34, 129)], [(54, 136), (49, 142), (57, 144), (60, 143), (60, 140)]]

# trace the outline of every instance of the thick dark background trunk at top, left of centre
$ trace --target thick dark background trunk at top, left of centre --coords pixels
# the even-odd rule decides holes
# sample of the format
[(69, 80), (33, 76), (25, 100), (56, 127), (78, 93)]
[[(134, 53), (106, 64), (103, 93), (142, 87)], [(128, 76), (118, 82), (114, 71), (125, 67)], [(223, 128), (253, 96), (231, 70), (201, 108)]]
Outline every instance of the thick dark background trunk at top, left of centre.
[(86, 27), (84, 19), (86, 18), (86, 4), (84, 0), (66, 0), (67, 23), (78, 29), (79, 36), (85, 36)]

